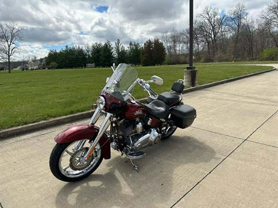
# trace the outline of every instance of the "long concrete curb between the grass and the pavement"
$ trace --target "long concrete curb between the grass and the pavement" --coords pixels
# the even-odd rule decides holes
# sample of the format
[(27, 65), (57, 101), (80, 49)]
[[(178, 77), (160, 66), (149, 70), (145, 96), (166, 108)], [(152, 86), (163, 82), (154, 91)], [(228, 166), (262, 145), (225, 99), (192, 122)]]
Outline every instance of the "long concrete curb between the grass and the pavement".
[[(268, 69), (265, 71), (259, 71), (259, 72), (255, 72), (252, 74), (242, 75), (242, 76), (238, 76), (238, 77), (234, 77), (234, 78), (230, 78), (230, 79), (226, 79), (226, 80), (221, 80), (221, 81), (217, 81), (217, 82), (213, 82), (213, 83), (209, 83), (209, 84), (204, 84), (204, 85), (200, 85), (200, 86), (196, 86), (196, 87), (192, 87), (192, 88), (187, 88), (187, 89), (183, 90), (182, 94), (213, 87), (213, 86), (216, 86), (219, 84), (229, 83), (229, 82), (232, 82), (235, 80), (244, 79), (247, 77), (263, 74), (263, 73), (266, 73), (269, 71), (274, 71), (274, 70), (276, 70), (276, 68)], [(146, 102), (146, 100), (147, 100), (147, 98), (142, 98), (142, 99), (139, 99), (138, 101)], [(86, 119), (86, 118), (89, 119), (92, 116), (93, 112), (94, 112), (94, 110), (90, 110), (90, 111), (80, 112), (80, 113), (76, 113), (76, 114), (71, 114), (68, 116), (61, 116), (61, 117), (53, 118), (50, 120), (40, 121), (40, 122), (33, 123), (33, 124), (27, 124), (27, 125), (23, 125), (23, 126), (8, 128), (8, 129), (0, 131), (0, 141), (3, 139), (9, 138), (9, 137), (15, 137), (15, 136), (18, 136), (21, 134), (30, 133), (30, 132), (33, 132), (36, 130), (41, 130), (44, 128), (49, 128), (49, 127), (53, 127), (53, 126), (81, 120), (81, 119)]]

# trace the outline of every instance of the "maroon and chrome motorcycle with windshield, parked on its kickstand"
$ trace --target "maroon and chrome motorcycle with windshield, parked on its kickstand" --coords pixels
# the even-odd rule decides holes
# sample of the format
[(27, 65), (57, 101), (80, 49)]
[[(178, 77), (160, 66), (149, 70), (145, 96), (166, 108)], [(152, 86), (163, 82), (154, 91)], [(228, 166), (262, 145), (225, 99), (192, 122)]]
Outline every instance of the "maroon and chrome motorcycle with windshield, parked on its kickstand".
[[(78, 181), (89, 176), (103, 158), (110, 159), (111, 148), (126, 155), (139, 171), (133, 160), (146, 155), (142, 149), (169, 138), (177, 128), (187, 128), (196, 118), (196, 110), (182, 103), (183, 80), (175, 82), (170, 92), (157, 95), (150, 83), (162, 85), (160, 77), (139, 79), (137, 71), (124, 63), (112, 69), (114, 73), (107, 78), (89, 124), (70, 127), (55, 137), (57, 144), (49, 166), (53, 175), (62, 181)], [(132, 96), (136, 84), (149, 93), (148, 104)], [(97, 127), (99, 119), (103, 121)]]

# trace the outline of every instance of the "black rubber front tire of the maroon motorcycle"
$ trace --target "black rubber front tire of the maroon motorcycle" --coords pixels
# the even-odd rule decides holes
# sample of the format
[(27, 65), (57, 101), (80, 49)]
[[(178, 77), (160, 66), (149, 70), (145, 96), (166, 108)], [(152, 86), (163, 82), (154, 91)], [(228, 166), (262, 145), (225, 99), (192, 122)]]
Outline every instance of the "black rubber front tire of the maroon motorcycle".
[[(50, 170), (53, 173), (53, 175), (61, 181), (74, 182), (74, 181), (82, 180), (83, 178), (86, 178), (87, 176), (91, 175), (91, 173), (93, 173), (99, 167), (100, 163), (103, 160), (103, 155), (102, 155), (101, 149), (99, 149), (100, 153), (99, 153), (98, 157), (94, 157), (90, 161), (90, 165), (88, 165), (88, 167), (86, 167), (82, 170), (78, 170), (78, 171), (72, 170), (71, 172), (73, 172), (73, 173), (75, 173), (75, 172), (77, 172), (77, 173), (80, 172), (80, 173), (76, 174), (76, 175), (68, 174), (68, 176), (67, 176), (67, 173), (69, 173), (69, 171), (67, 171), (67, 170), (63, 171), (63, 167), (61, 167), (61, 161), (63, 160), (62, 157), (66, 153), (65, 151), (70, 149), (69, 147), (73, 143), (74, 142), (65, 143), (65, 144), (56, 144), (50, 154), (50, 158), (49, 158)], [(95, 159), (96, 159), (96, 161), (94, 162)]]

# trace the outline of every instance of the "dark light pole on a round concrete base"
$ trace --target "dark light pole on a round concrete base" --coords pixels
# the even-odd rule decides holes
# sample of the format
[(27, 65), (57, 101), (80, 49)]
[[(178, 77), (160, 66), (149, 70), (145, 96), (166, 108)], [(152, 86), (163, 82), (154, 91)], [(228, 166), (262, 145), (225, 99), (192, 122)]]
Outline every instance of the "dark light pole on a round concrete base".
[(197, 69), (193, 66), (193, 0), (189, 0), (189, 66), (184, 70), (185, 85), (197, 84)]

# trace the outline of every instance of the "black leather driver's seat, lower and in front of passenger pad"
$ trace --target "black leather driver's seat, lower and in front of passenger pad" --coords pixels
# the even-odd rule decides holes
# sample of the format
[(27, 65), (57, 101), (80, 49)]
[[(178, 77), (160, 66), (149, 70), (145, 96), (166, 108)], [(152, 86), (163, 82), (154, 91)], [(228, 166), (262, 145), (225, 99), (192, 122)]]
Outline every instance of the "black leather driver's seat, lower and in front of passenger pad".
[(144, 107), (151, 116), (156, 118), (166, 118), (168, 116), (169, 106), (161, 100), (154, 100), (147, 105), (144, 104)]

